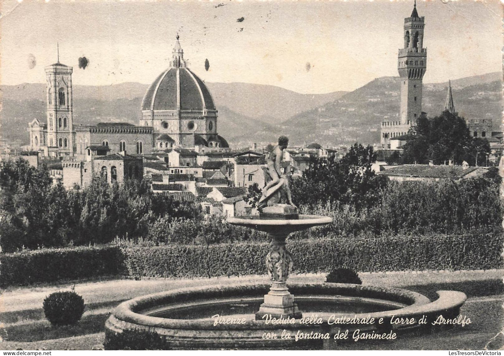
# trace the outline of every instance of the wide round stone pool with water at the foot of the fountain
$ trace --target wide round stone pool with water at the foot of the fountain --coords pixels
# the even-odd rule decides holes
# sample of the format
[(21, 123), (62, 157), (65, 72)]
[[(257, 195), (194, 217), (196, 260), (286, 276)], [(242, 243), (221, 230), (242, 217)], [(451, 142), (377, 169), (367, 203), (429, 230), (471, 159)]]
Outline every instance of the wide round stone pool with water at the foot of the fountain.
[[(295, 334), (297, 330), (332, 333), (335, 328), (373, 329), (376, 325), (329, 325), (327, 320), (331, 315), (383, 317), (385, 320), (390, 320), (392, 316), (433, 316), (440, 311), (444, 315), (456, 315), (463, 303), (452, 303), (451, 306), (430, 303), (419, 293), (398, 288), (340, 283), (289, 284), (289, 289), (296, 293), (296, 300), (303, 308), (308, 308), (303, 312), (303, 317), (317, 314), (324, 319), (324, 323), (301, 324), (296, 320), (294, 324), (279, 325), (255, 320), (253, 314), (261, 302), (259, 296), (267, 292), (269, 287), (269, 284), (243, 284), (182, 288), (135, 298), (120, 304), (109, 317), (105, 324), (106, 340), (120, 338), (124, 330), (136, 329), (156, 333), (173, 349), (321, 349), (324, 347), (323, 340), (285, 340), (280, 338), (282, 330)], [(445, 302), (447, 299), (454, 301), (453, 295), (445, 297)], [(345, 307), (340, 308), (342, 305)], [(354, 308), (361, 313), (349, 312)], [(232, 319), (243, 319), (244, 322), (214, 325), (215, 318), (212, 319), (212, 316), (219, 313)], [(385, 325), (390, 329), (396, 328), (390, 323)], [(275, 333), (278, 338), (265, 339), (268, 333)]]

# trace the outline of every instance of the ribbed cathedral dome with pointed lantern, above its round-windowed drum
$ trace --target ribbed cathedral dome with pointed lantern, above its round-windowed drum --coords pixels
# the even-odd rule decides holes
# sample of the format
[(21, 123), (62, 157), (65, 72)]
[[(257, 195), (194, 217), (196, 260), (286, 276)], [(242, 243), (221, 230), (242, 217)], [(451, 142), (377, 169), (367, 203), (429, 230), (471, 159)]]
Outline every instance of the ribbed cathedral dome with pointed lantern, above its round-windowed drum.
[(205, 83), (186, 67), (178, 37), (173, 48), (171, 67), (147, 89), (142, 110), (215, 110), (212, 95)]

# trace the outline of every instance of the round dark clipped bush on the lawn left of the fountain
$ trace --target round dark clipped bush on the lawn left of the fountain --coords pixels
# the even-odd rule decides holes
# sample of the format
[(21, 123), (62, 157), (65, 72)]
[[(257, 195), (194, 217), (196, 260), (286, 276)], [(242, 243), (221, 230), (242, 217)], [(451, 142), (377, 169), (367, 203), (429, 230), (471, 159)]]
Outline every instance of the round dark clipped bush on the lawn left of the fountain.
[(84, 299), (74, 291), (51, 293), (44, 299), (44, 314), (52, 325), (75, 324), (84, 314)]

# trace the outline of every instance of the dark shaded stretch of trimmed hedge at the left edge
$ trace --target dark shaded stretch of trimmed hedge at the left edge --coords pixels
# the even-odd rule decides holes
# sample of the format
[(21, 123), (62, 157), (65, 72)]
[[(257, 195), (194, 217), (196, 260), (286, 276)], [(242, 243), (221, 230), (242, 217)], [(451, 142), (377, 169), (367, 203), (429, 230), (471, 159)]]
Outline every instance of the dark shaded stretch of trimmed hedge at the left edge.
[(124, 271), (123, 261), (121, 250), (115, 246), (0, 254), (0, 287), (117, 275)]

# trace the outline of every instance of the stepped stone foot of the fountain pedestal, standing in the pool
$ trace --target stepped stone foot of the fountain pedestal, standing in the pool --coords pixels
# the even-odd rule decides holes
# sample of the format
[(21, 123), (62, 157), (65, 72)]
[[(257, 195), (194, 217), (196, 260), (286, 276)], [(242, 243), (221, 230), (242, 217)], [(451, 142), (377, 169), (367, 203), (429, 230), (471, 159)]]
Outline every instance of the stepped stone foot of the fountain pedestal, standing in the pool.
[(265, 294), (264, 303), (256, 313), (256, 320), (266, 320), (265, 315), (277, 319), (302, 318), (302, 313), (294, 303), (294, 295), (289, 293), (285, 282), (273, 282), (270, 291)]

